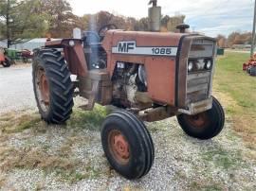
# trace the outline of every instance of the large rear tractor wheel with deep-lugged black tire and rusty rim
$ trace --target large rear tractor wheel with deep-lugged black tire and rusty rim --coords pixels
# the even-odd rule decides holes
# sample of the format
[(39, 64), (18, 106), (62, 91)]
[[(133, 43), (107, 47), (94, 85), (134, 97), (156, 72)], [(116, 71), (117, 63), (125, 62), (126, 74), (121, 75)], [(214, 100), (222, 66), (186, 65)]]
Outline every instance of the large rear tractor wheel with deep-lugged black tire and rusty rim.
[(64, 123), (74, 105), (73, 84), (64, 57), (54, 49), (41, 49), (35, 54), (32, 66), (39, 113), (47, 123)]

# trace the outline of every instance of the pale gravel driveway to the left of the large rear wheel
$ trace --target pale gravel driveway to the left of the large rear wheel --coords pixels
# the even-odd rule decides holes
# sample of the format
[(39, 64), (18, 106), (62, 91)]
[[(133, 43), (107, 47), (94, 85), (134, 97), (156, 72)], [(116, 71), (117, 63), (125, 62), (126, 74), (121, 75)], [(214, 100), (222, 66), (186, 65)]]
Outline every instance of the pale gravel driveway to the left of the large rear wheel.
[(31, 71), (29, 65), (0, 66), (0, 113), (35, 108)]

